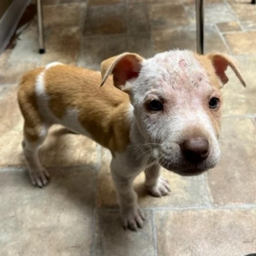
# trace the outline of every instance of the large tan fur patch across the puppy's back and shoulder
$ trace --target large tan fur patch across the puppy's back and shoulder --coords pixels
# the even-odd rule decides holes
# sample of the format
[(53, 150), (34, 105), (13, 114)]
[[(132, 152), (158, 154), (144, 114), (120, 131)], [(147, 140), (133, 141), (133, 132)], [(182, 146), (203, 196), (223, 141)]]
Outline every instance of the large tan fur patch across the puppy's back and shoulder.
[(62, 118), (68, 109), (78, 111), (78, 119), (102, 146), (122, 152), (129, 143), (129, 96), (116, 89), (112, 77), (100, 87), (97, 71), (59, 65), (45, 70), (45, 91), (52, 113)]

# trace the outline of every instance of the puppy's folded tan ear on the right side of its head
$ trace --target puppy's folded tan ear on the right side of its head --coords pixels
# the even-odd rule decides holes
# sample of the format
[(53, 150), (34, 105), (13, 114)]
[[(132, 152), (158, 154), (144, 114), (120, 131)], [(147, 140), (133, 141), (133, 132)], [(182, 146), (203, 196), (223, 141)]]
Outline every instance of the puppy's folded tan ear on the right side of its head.
[(235, 72), (237, 78), (241, 82), (241, 84), (246, 87), (246, 84), (244, 82), (244, 79), (237, 68), (235, 61), (232, 60), (228, 55), (223, 53), (211, 53), (207, 55), (207, 57), (212, 61), (212, 64), (215, 68), (215, 73), (220, 78), (221, 82), (226, 84), (228, 82), (228, 77), (225, 74), (225, 71), (227, 70), (227, 67), (229, 66), (233, 71)]

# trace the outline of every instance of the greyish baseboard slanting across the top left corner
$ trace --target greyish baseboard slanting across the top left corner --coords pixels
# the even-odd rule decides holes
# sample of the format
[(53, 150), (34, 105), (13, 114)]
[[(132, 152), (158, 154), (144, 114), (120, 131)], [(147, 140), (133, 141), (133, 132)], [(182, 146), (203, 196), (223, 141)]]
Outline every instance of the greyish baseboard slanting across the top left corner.
[(30, 1), (31, 0), (14, 0), (0, 20), (0, 54), (9, 43)]

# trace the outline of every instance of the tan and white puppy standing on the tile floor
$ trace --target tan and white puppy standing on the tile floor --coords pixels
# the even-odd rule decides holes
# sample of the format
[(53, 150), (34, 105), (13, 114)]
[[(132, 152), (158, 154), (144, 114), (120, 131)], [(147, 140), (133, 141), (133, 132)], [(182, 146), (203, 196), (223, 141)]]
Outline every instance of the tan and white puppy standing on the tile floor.
[(150, 194), (162, 196), (170, 189), (159, 176), (160, 166), (195, 175), (218, 163), (220, 88), (228, 82), (228, 66), (245, 86), (227, 55), (178, 50), (150, 59), (134, 53), (107, 59), (101, 64), (102, 79), (97, 71), (58, 62), (28, 71), (18, 99), (33, 185), (44, 187), (49, 178), (38, 158), (39, 146), (51, 125), (64, 125), (111, 151), (123, 224), (132, 230), (142, 227), (145, 215), (132, 187), (142, 170)]

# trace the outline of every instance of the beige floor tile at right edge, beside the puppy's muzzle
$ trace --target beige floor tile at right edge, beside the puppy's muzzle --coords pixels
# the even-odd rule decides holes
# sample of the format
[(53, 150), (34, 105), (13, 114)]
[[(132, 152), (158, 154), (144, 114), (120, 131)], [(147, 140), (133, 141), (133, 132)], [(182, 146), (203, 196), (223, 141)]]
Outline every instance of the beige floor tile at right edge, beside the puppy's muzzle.
[(256, 127), (249, 118), (225, 118), (221, 161), (208, 173), (213, 203), (256, 204)]

